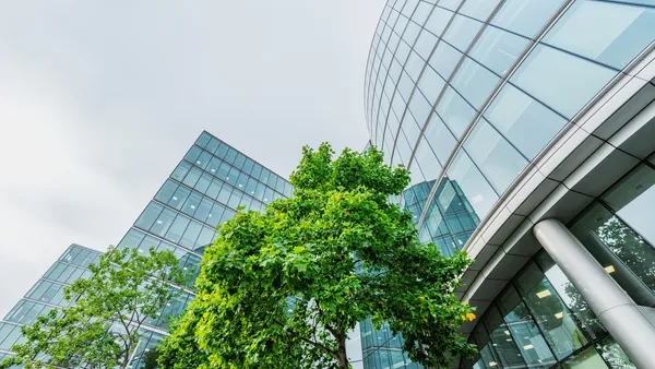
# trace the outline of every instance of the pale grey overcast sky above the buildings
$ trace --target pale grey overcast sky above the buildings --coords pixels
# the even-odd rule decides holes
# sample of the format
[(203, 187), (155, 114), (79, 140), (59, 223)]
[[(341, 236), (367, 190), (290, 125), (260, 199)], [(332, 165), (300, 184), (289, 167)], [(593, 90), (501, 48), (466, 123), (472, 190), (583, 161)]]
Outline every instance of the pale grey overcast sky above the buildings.
[(0, 3), (0, 316), (116, 245), (203, 129), (283, 177), (364, 147), (383, 0)]

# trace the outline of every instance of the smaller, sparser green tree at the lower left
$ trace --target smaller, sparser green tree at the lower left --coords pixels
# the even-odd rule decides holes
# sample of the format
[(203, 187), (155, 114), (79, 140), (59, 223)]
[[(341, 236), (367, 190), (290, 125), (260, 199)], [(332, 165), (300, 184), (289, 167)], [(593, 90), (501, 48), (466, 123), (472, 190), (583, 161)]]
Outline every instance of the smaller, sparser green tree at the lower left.
[(88, 279), (64, 287), (74, 305), (23, 326), (25, 342), (12, 347), (15, 355), (0, 368), (128, 368), (141, 326), (181, 293), (170, 284), (187, 281), (172, 252), (154, 248), (140, 255), (110, 247), (88, 270)]

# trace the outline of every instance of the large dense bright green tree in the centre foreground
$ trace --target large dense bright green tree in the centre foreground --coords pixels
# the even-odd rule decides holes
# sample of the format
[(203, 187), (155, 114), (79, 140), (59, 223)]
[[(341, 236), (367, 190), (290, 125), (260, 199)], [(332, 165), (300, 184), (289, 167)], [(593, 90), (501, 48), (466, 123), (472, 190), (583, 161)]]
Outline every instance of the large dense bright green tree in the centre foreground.
[(348, 368), (347, 333), (367, 317), (430, 367), (474, 352), (457, 329), (475, 316), (453, 294), (471, 261), (419, 243), (412, 215), (388, 201), (407, 170), (374, 148), (333, 156), (305, 147), (291, 199), (223, 225), (162, 368)]

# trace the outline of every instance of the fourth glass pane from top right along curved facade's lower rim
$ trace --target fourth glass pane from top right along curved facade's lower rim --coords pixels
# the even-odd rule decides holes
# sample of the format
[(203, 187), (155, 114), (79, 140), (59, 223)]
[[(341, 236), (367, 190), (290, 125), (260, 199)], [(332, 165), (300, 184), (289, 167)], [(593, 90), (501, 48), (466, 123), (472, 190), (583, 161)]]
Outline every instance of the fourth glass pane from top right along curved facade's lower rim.
[(504, 192), (527, 165), (527, 160), (484, 118), (466, 138), (464, 147), (498, 193)]

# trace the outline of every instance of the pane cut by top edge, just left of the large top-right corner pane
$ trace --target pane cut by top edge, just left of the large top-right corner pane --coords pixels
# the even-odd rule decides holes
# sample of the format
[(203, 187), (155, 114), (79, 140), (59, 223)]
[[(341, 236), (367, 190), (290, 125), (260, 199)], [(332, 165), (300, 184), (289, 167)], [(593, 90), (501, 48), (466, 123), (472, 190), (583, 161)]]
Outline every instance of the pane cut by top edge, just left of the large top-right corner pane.
[(491, 24), (532, 38), (563, 2), (563, 0), (507, 0), (491, 20)]

